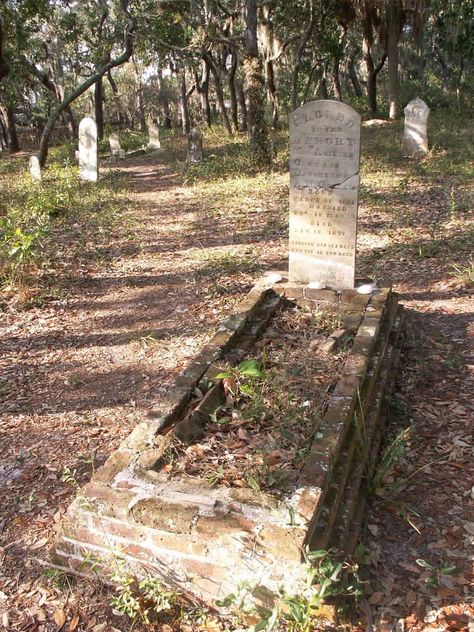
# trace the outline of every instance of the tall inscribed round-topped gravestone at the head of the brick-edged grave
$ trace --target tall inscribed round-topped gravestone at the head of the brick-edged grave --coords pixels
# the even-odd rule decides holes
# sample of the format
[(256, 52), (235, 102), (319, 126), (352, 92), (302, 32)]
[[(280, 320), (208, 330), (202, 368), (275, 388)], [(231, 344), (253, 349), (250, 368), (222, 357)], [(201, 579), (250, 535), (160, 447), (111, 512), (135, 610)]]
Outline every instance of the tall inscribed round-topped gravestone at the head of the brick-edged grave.
[(290, 115), (289, 279), (354, 287), (360, 115), (312, 101)]

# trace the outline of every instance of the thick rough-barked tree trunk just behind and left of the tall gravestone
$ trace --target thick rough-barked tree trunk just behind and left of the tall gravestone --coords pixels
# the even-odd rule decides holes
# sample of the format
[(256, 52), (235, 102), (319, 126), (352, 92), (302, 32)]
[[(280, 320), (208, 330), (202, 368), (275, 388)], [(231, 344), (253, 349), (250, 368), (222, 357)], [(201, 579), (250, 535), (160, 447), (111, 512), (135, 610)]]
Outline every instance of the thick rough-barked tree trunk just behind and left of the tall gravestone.
[(257, 0), (245, 0), (245, 57), (243, 64), (247, 93), (247, 126), (250, 146), (257, 161), (272, 161), (270, 134), (265, 116), (265, 82), (258, 56)]

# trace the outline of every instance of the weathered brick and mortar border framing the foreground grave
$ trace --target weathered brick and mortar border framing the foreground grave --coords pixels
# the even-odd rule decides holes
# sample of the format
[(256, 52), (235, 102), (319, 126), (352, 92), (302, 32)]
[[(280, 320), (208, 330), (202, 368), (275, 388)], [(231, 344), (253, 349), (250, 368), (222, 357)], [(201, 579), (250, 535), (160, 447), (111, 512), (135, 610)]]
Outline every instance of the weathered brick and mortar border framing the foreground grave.
[[(76, 573), (92, 566), (107, 574), (120, 556), (132, 572), (159, 575), (214, 606), (244, 580), (271, 591), (285, 586), (297, 592), (307, 578), (305, 550), (354, 549), (383, 433), (386, 397), (394, 383), (403, 311), (383, 283), (371, 296), (309, 289), (285, 279), (272, 287), (265, 283), (246, 296), (180, 374), (159, 409), (79, 492), (52, 551), (55, 566)], [(168, 445), (163, 430), (187, 439), (199, 433), (219, 399), (219, 385), (189, 411), (196, 385), (206, 374), (215, 375), (215, 363), (242, 358), (288, 300), (306, 309), (344, 303), (342, 329), (329, 342), (337, 345), (344, 336), (353, 337), (291, 492), (281, 499), (252, 489), (210, 488), (190, 477), (167, 479), (160, 471)], [(358, 443), (361, 424), (363, 448)]]

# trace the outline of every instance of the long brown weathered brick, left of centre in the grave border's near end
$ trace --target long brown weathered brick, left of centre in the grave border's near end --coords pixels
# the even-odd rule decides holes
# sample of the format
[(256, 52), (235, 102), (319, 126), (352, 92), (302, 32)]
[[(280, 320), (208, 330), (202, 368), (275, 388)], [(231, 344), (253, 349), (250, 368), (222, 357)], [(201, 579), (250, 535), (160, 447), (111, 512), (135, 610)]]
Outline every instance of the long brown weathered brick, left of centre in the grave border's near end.
[(198, 516), (198, 508), (163, 501), (160, 498), (143, 498), (130, 510), (131, 518), (146, 527), (170, 533), (191, 533)]

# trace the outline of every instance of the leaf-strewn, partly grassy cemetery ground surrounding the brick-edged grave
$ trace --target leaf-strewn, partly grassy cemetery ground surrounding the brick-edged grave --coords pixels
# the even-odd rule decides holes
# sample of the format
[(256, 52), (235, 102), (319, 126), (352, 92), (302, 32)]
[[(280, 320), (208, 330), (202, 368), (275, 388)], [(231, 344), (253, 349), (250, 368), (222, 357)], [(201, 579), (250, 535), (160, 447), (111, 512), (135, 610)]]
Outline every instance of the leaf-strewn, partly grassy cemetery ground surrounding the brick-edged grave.
[[(473, 130), (454, 116), (433, 116), (432, 149), (420, 161), (402, 158), (401, 135), (399, 124), (362, 134), (358, 273), (390, 279), (411, 326), (359, 560), (364, 595), (351, 625), (467, 630)], [(166, 391), (252, 280), (286, 266), (286, 146), (280, 139), (275, 169), (259, 172), (239, 139), (213, 133), (205, 160), (185, 168), (184, 141), (171, 137), (159, 154), (114, 166), (99, 190), (83, 184), (78, 195), (77, 184), (66, 187), (66, 204), (53, 185), (61, 195), (48, 207), (59, 217), (41, 235), (46, 269), (35, 274), (41, 260), (32, 257), (20, 293), (7, 274), (2, 299), (6, 629), (130, 629), (111, 610), (112, 589), (45, 571), (36, 559), (46, 557), (75, 486)], [(26, 164), (26, 156), (2, 160), (2, 191)], [(185, 611), (155, 629), (237, 626)]]

